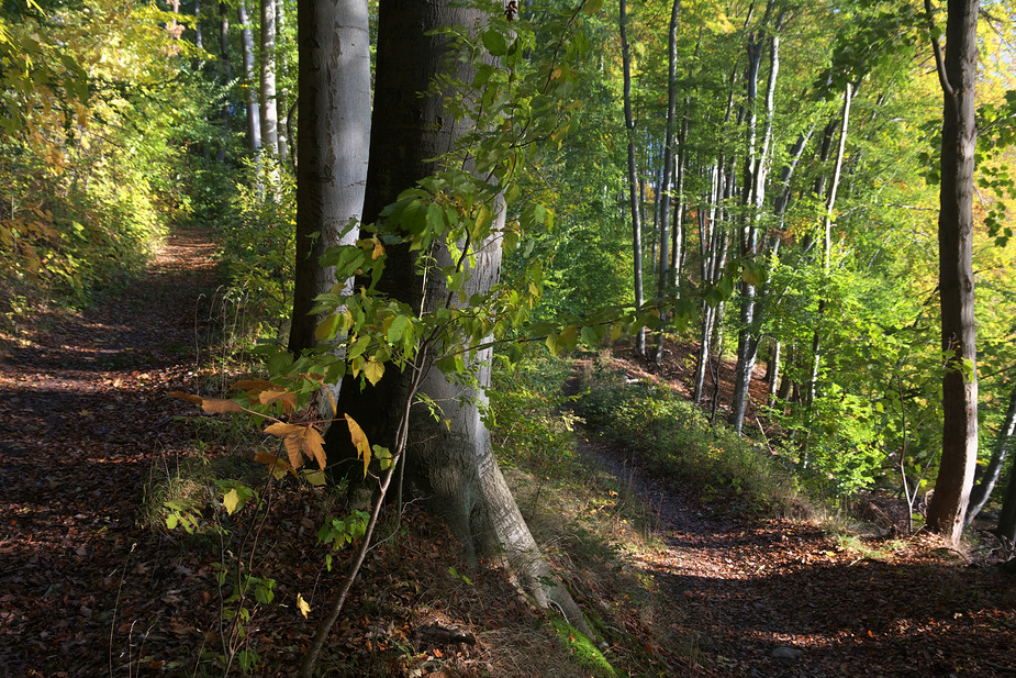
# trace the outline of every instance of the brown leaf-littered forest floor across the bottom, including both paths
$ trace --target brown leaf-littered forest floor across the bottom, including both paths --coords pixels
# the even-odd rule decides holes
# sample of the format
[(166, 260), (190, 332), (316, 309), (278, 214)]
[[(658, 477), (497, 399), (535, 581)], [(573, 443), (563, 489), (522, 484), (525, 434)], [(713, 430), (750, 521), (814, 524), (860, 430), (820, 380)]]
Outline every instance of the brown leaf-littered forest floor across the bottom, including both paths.
[[(270, 515), (209, 510), (227, 533), (186, 536), (145, 516), (157, 479), (235, 452), (234, 438), (209, 435), (226, 421), (167, 398), (213, 377), (202, 371), (209, 345), (196, 340), (220, 312), (212, 252), (205, 234), (178, 232), (123, 293), (8, 337), (0, 676), (221, 676), (230, 656), (241, 675), (242, 652), (257, 653), (250, 674), (294, 675), (343, 573), (342, 554), (327, 571), (314, 540), (334, 509), (326, 492), (266, 485)], [(686, 348), (676, 346), (661, 376), (683, 388), (686, 365)], [(813, 521), (744, 518), (701, 488), (641, 477), (626, 451), (584, 438), (580, 448), (652, 518), (640, 548), (585, 551), (588, 563), (571, 536), (550, 548), (562, 571), (572, 568), (580, 603), (601, 619), (600, 647), (615, 667), (662, 676), (1016, 673), (1016, 577), (976, 552), (920, 535), (846, 544)], [(610, 675), (561, 665), (568, 632), (555, 632), (498, 568), (464, 576), (437, 521), (411, 508), (403, 524), (368, 559), (321, 666), (326, 675)], [(228, 602), (239, 560), (276, 579), (273, 604), (244, 599), (243, 635), (223, 612), (239, 604)], [(656, 590), (652, 605), (639, 587)], [(448, 643), (443, 629), (470, 642)]]

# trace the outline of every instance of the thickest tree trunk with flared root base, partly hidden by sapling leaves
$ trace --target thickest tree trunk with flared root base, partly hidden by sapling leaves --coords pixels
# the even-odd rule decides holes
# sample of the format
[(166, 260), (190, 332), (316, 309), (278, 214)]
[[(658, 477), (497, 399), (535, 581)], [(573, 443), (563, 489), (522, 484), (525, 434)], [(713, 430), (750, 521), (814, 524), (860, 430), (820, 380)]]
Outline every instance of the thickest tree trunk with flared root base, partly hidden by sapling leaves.
[[(470, 121), (454, 119), (439, 97), (421, 97), (418, 92), (446, 70), (448, 38), (436, 31), (454, 25), (477, 29), (485, 19), (482, 12), (453, 0), (381, 0), (379, 16), (365, 222), (376, 221), (402, 190), (431, 175), (433, 158), (455, 149), (462, 133), (470, 130)], [(459, 68), (465, 70), (466, 66)], [(469, 73), (455, 75), (467, 82), (472, 80)], [(303, 162), (301, 157), (300, 164)], [(503, 203), (490, 207), (504, 219)], [(499, 233), (500, 229), (495, 225), (491, 232)], [(467, 298), (496, 281), (500, 242), (492, 237), (472, 243), (471, 252), (476, 264), (470, 269), (472, 287), (466, 290)], [(447, 249), (427, 254), (435, 257), (436, 266), (448, 262)], [(418, 256), (405, 245), (387, 247), (377, 290), (428, 313), (446, 303), (449, 294), (443, 276), (420, 274)], [(474, 360), (476, 387), (453, 384), (436, 368), (424, 379), (421, 392), (443, 409), (442, 418), (448, 422), (435, 420), (424, 404), (413, 405), (405, 474), (470, 553), (502, 556), (538, 602), (559, 605), (571, 621), (585, 626), (581, 611), (543, 558), (498, 467), (480, 415), (483, 391), (490, 384), (490, 353), (480, 352)], [(426, 365), (421, 367), (427, 369)], [(339, 412), (359, 422), (371, 443), (394, 448), (402, 407), (412, 397), (412, 369), (391, 367), (376, 386), (362, 390), (347, 377), (339, 393)], [(330, 465), (356, 459), (348, 432), (342, 427), (330, 429), (325, 440)]]

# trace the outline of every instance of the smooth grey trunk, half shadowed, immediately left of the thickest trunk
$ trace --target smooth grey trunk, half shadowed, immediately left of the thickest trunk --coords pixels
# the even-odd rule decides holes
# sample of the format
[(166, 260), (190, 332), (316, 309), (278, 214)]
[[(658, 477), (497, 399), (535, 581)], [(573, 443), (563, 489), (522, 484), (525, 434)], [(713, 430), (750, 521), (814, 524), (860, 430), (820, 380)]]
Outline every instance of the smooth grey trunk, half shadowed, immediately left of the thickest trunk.
[[(358, 236), (370, 155), (370, 34), (367, 0), (300, 0), (297, 137), (297, 260), (289, 351), (317, 342), (314, 299), (337, 282), (317, 260)], [(335, 393), (333, 393), (334, 396)]]

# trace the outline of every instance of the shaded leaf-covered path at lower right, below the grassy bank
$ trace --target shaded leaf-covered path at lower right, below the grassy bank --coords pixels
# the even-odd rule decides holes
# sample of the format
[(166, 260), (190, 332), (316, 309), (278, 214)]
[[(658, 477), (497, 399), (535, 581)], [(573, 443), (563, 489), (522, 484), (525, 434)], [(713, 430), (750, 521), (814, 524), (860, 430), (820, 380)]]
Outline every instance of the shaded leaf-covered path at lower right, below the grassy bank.
[(643, 566), (670, 592), (703, 675), (1016, 673), (1013, 575), (920, 538), (866, 558), (812, 524), (745, 520), (643, 477), (624, 452), (582, 448), (661, 514), (667, 549)]

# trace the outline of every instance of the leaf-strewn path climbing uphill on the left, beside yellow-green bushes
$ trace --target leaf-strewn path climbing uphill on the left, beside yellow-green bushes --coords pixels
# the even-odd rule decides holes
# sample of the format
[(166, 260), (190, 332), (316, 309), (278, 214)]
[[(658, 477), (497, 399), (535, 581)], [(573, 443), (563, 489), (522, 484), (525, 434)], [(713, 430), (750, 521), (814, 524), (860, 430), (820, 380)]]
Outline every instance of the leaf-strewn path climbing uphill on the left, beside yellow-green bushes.
[(137, 557), (164, 546), (136, 510), (152, 462), (186, 446), (166, 392), (189, 386), (211, 252), (174, 234), (130, 289), (0, 363), (2, 676), (132, 675), (143, 655), (134, 609), (166, 594), (165, 567)]

